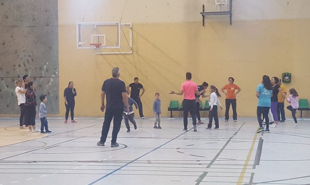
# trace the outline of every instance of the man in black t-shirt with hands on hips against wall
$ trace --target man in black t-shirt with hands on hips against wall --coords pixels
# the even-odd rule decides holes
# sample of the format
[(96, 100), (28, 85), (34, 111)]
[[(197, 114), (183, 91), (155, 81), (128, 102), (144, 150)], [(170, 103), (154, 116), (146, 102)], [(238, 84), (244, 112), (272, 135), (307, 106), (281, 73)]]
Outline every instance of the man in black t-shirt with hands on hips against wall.
[[(144, 116), (143, 116), (143, 108), (142, 108), (142, 102), (141, 102), (141, 99), (140, 97), (144, 94), (145, 92), (145, 89), (143, 87), (142, 84), (139, 83), (139, 79), (137, 77), (135, 77), (135, 83), (131, 83), (127, 86), (127, 90), (129, 91), (130, 93), (130, 97), (132, 99), (135, 100), (135, 102), (137, 102), (138, 104), (138, 107), (139, 107), (139, 114), (140, 114), (140, 117), (141, 119), (144, 119)], [(131, 87), (131, 91), (129, 90), (129, 87)], [(142, 93), (140, 95), (140, 90), (142, 89)]]

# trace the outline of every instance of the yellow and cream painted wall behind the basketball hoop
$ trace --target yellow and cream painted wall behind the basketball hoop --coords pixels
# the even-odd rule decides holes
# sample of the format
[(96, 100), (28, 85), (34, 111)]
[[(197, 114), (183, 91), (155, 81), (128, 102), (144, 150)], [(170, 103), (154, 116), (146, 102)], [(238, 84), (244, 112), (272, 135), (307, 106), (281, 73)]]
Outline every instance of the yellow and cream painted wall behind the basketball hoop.
[[(271, 4), (277, 10), (272, 15), (267, 11), (270, 1), (254, 7), (249, 3), (256, 1), (236, 0), (232, 26), (227, 16), (221, 16), (206, 20), (205, 27), (199, 14), (203, 1), (86, 2), (89, 1), (58, 1), (61, 115), (65, 112), (62, 92), (69, 81), (74, 81), (78, 92), (75, 114), (102, 115), (101, 86), (115, 66), (121, 69), (126, 85), (134, 77), (139, 77), (144, 85), (145, 116), (153, 115), (155, 92), (161, 94), (162, 115), (170, 114), (170, 100), (181, 102), (182, 97), (168, 92), (180, 89), (186, 72), (193, 74), (197, 84), (206, 81), (218, 88), (228, 83), (228, 77), (234, 77), (242, 89), (237, 96), (238, 116), (256, 116), (255, 89), (264, 74), (281, 77), (284, 72), (292, 73), (292, 83), (286, 84), (286, 88), (294, 87), (299, 98), (310, 99), (310, 17), (304, 7), (310, 4), (306, 0), (290, 2), (291, 5), (272, 1), (278, 2)], [(301, 4), (298, 13), (294, 8)], [(119, 21), (122, 15), (123, 23), (133, 23), (133, 54), (95, 55), (90, 49), (76, 48), (77, 22), (83, 18), (84, 22)], [(224, 97), (220, 101), (224, 104)], [(223, 116), (224, 111), (219, 111), (219, 115)]]

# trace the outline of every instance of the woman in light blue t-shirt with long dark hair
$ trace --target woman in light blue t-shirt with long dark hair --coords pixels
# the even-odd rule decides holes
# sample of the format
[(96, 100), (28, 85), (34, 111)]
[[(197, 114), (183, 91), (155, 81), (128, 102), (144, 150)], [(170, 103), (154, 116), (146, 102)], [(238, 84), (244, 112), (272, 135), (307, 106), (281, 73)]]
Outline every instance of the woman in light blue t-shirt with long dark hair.
[[(272, 85), (270, 82), (270, 78), (267, 75), (263, 76), (262, 83), (257, 86), (256, 89), (256, 97), (258, 98), (257, 104), (257, 120), (259, 123), (259, 129), (257, 133), (264, 130), (262, 114), (265, 117), (266, 123), (269, 123), (268, 112), (271, 105), (271, 97), (272, 97)], [(266, 124), (266, 132), (269, 132), (269, 124)]]

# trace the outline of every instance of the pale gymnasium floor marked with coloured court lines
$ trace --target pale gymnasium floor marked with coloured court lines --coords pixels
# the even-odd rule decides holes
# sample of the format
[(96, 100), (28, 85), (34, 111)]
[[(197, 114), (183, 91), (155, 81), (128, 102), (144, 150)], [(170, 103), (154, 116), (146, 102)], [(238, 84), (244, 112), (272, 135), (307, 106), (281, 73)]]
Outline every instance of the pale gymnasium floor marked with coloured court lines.
[(122, 123), (119, 148), (110, 147), (111, 131), (106, 146), (96, 146), (102, 117), (48, 120), (52, 133), (41, 134), (0, 118), (0, 185), (310, 183), (310, 119), (259, 134), (256, 118), (220, 118), (220, 130), (204, 124), (197, 132), (182, 131), (182, 118), (162, 118), (162, 130), (153, 119), (136, 119), (130, 133)]

